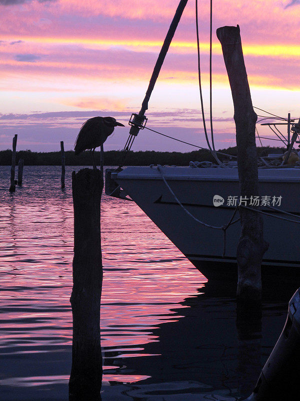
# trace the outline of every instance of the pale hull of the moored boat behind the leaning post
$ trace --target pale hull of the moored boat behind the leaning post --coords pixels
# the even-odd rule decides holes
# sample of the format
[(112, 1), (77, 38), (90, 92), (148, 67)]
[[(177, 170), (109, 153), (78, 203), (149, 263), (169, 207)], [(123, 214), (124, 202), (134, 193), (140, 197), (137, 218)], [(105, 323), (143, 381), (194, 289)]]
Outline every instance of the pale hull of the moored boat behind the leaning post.
[[(236, 169), (160, 167), (160, 171), (193, 217), (211, 226), (223, 226), (230, 220), (235, 207), (227, 206), (226, 199), (228, 196), (239, 199)], [(236, 269), (240, 223), (227, 229), (225, 254), (222, 256), (223, 231), (204, 227), (190, 217), (176, 202), (161, 173), (156, 167), (127, 167), (112, 172), (111, 178), (204, 275), (207, 262), (213, 262), (214, 266), (217, 262), (222, 266), (229, 263)], [(263, 211), (300, 222), (300, 169), (259, 170), (259, 191), (261, 196), (281, 196), (280, 206), (275, 207), (296, 214), (299, 219), (265, 207), (261, 208)], [(225, 199), (222, 206), (213, 206), (214, 195)], [(263, 265), (299, 267), (300, 225), (262, 216), (264, 238), (269, 242)]]

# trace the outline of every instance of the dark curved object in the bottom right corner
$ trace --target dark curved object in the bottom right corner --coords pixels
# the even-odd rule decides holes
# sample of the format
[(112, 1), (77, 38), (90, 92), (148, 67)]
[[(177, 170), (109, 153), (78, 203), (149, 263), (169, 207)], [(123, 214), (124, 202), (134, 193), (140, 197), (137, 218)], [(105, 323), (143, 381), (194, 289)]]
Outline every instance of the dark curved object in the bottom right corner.
[(288, 303), (284, 328), (262, 368), (252, 394), (244, 401), (299, 399), (300, 394), (300, 289)]

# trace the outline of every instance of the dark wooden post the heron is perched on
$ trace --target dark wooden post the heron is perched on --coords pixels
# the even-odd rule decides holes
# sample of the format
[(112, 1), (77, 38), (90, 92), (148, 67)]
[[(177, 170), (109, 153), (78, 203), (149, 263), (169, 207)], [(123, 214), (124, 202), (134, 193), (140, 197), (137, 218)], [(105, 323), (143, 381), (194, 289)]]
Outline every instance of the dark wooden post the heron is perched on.
[(73, 315), (70, 400), (100, 400), (102, 356), (100, 300), (102, 262), (100, 201), (103, 179), (99, 170), (72, 172), (74, 206)]

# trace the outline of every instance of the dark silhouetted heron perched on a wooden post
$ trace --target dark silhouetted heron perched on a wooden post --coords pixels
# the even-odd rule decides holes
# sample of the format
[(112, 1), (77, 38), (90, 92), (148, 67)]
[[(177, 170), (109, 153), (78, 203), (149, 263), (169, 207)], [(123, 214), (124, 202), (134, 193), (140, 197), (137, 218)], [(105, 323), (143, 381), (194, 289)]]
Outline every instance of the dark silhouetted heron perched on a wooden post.
[(79, 154), (86, 149), (90, 150), (92, 165), (96, 169), (94, 151), (100, 146), (101, 149), (101, 172), (103, 173), (103, 143), (109, 135), (112, 134), (114, 127), (124, 127), (123, 124), (117, 122), (113, 117), (92, 117), (85, 121), (77, 135), (74, 150), (75, 154)]

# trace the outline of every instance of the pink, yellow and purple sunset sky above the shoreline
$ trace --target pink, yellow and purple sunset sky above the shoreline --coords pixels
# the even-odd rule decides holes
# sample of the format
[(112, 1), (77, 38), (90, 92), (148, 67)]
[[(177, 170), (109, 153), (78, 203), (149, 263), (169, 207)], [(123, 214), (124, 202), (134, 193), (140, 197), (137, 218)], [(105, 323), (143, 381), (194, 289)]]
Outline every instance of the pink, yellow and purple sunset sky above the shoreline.
[[(96, 115), (111, 115), (125, 124), (105, 143), (105, 150), (121, 149), (128, 136), (128, 119), (140, 109), (178, 3), (0, 0), (0, 149), (11, 148), (15, 133), (17, 149), (59, 150), (60, 140), (65, 149), (72, 149), (81, 124)], [(203, 97), (209, 118), (209, 1), (198, 0), (198, 9)], [(299, 118), (299, 21), (299, 0), (214, 1), (216, 148), (235, 144), (232, 99), (216, 29), (240, 27), (253, 105)], [(194, 0), (184, 10), (146, 116), (149, 128), (205, 146)], [(261, 135), (271, 136), (266, 127), (257, 128)], [(140, 149), (193, 150), (147, 130), (135, 140), (133, 150)]]

